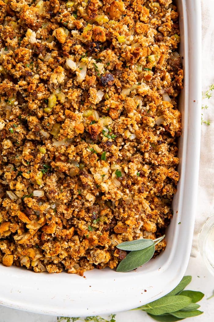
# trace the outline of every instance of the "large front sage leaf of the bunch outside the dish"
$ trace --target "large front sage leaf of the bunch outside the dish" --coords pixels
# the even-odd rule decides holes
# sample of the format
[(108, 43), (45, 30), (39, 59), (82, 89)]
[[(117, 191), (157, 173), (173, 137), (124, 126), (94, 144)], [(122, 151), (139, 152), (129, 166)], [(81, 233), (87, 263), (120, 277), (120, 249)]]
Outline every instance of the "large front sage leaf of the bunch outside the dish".
[(187, 307), (190, 303), (191, 298), (188, 298), (187, 296), (164, 296), (156, 301), (147, 304), (146, 306), (148, 306), (148, 309), (145, 309), (145, 311), (152, 315), (161, 315), (179, 311), (182, 308)]

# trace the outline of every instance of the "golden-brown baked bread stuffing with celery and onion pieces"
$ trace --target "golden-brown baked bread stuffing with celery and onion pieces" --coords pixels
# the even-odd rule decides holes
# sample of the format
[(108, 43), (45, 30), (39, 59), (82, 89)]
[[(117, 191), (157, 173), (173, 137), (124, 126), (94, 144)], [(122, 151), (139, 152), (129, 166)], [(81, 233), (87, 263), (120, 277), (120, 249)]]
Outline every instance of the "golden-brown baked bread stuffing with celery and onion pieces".
[[(171, 0), (0, 0), (0, 262), (83, 275), (172, 218)], [(166, 241), (156, 246), (156, 254)]]

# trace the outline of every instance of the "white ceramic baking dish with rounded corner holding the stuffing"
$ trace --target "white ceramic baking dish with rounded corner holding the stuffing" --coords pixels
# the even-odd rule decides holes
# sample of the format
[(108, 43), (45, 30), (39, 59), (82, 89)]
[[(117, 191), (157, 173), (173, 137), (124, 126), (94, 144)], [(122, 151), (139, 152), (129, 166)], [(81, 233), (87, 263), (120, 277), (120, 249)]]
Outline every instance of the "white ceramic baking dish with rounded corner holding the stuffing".
[(201, 7), (198, 0), (180, 0), (178, 7), (185, 74), (180, 98), (181, 179), (173, 202), (174, 217), (167, 231), (166, 250), (136, 271), (93, 270), (85, 273), (86, 278), (66, 273), (36, 274), (0, 265), (1, 305), (59, 316), (112, 313), (155, 300), (182, 279), (193, 237), (200, 156)]

